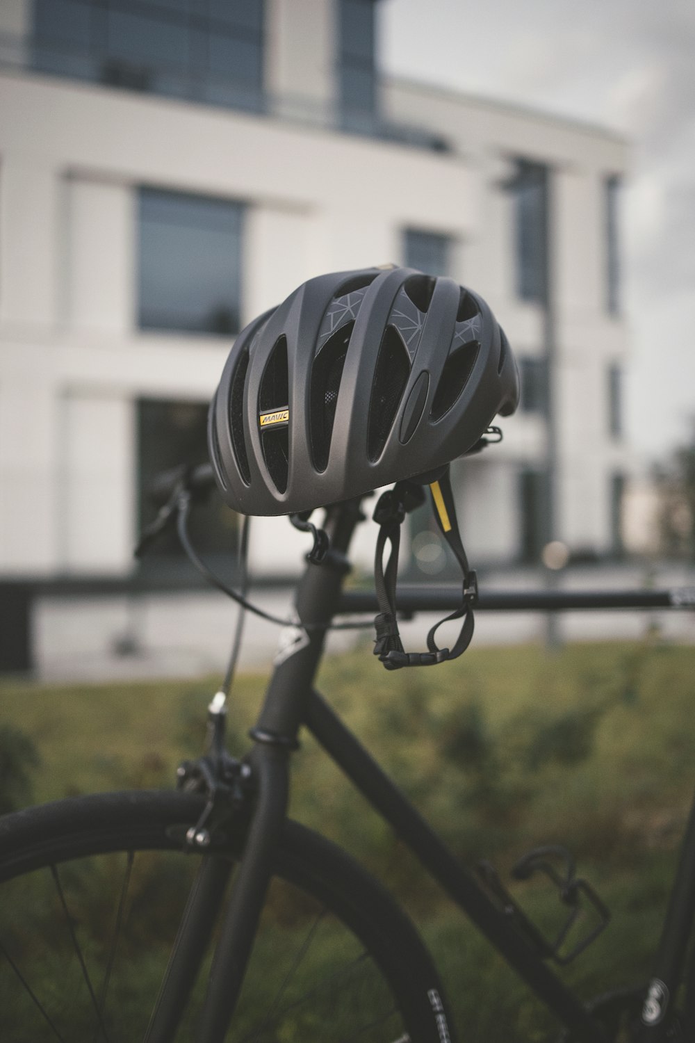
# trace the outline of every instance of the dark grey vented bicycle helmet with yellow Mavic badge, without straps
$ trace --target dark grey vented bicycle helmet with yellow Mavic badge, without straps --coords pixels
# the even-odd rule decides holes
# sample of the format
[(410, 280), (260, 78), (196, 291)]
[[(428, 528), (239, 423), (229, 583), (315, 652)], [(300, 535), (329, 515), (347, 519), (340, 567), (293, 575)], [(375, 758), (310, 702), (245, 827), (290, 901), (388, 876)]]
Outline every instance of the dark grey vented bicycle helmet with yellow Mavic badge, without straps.
[(237, 338), (210, 406), (225, 501), (290, 514), (442, 467), (519, 401), (476, 293), (412, 268), (311, 278)]

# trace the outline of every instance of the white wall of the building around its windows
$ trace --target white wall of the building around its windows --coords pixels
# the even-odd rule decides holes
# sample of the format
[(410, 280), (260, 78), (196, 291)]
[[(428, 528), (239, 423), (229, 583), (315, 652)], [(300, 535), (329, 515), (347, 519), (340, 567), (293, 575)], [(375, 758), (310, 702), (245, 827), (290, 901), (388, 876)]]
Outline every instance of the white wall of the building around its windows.
[[(329, 106), (333, 5), (272, 0), (270, 11), (270, 89)], [(453, 238), (455, 274), (488, 296), (513, 346), (539, 355), (542, 316), (516, 298), (511, 203), (501, 185), (515, 155), (555, 171), (562, 534), (570, 542), (607, 541), (607, 478), (625, 453), (597, 417), (606, 366), (624, 354), (625, 334), (603, 311), (599, 204), (604, 172), (625, 164), (623, 143), (412, 84), (388, 86), (384, 102), (393, 119), (442, 132), (454, 151), (96, 84), (0, 75), (4, 569), (128, 568), (132, 404), (139, 396), (207, 401), (231, 346), (226, 338), (136, 329), (139, 186), (248, 204), (245, 321), (318, 272), (400, 261), (402, 229), (414, 226)], [(467, 484), (474, 491), (462, 505), (473, 543), (491, 557), (517, 545), (515, 470), (545, 455), (538, 417), (503, 426), (506, 439), (494, 461), (471, 463)], [(365, 527), (366, 566), (372, 539)], [(259, 572), (282, 571), (305, 547), (287, 522), (255, 526)]]

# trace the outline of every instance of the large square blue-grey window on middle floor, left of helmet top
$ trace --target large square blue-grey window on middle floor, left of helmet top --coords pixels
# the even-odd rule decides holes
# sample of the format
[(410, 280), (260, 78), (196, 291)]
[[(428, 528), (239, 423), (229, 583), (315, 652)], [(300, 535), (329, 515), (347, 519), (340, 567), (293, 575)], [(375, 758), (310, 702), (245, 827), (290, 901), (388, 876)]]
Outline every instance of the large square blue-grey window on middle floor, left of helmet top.
[(239, 332), (243, 218), (227, 199), (140, 190), (141, 329)]

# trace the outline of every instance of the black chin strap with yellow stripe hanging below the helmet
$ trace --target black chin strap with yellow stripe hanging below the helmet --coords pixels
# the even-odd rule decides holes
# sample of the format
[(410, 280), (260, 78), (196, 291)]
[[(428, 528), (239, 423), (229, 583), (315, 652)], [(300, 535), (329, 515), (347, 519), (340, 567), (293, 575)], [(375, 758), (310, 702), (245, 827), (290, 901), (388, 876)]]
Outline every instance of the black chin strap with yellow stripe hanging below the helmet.
[[(428, 652), (403, 651), (396, 621), (396, 575), (400, 527), (405, 515), (424, 503), (425, 495), (421, 485), (397, 482), (393, 489), (382, 493), (374, 510), (374, 520), (379, 526), (374, 562), (374, 584), (379, 605), (379, 614), (374, 620), (376, 629), (374, 655), (379, 657), (387, 670), (399, 670), (401, 666), (432, 666), (446, 659), (455, 659), (466, 651), (473, 636), (473, 605), (477, 600), (478, 588), (475, 573), (468, 566), (466, 552), (461, 541), (448, 467), (438, 481), (429, 483), (429, 492), (440, 532), (451, 548), (463, 574), (462, 604), (431, 628), (427, 634)], [(387, 540), (391, 542), (391, 553), (384, 569), (383, 551)], [(435, 640), (438, 629), (443, 623), (460, 620), (462, 616), (464, 622), (452, 648), (440, 649)]]

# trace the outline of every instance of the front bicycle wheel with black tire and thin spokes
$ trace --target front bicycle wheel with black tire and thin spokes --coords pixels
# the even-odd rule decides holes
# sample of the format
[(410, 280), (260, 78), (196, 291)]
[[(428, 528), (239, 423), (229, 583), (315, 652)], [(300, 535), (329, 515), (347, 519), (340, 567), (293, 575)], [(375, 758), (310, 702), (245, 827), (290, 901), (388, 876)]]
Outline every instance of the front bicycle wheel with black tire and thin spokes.
[[(192, 794), (118, 793), (0, 819), (2, 1038), (143, 1038), (180, 918), (174, 899), (182, 907), (188, 895), (180, 880), (205, 857), (184, 854), (181, 844), (202, 806)], [(234, 859), (244, 834), (233, 820), (206, 854)], [(65, 984), (54, 980), (58, 970)], [(194, 1009), (204, 981), (198, 986)], [(386, 889), (336, 845), (288, 821), (225, 1039), (449, 1043), (442, 997), (429, 954)], [(195, 1010), (187, 1018), (177, 1039), (195, 1038)]]

